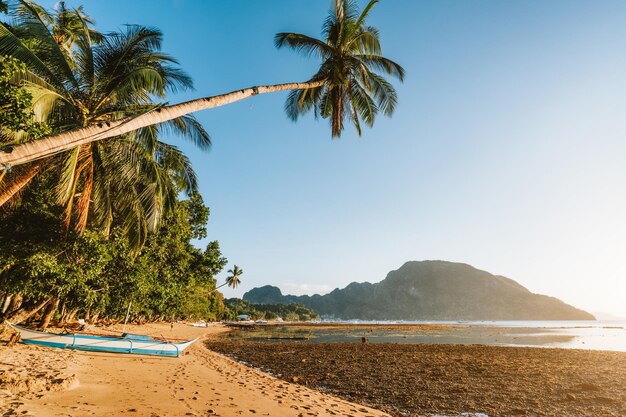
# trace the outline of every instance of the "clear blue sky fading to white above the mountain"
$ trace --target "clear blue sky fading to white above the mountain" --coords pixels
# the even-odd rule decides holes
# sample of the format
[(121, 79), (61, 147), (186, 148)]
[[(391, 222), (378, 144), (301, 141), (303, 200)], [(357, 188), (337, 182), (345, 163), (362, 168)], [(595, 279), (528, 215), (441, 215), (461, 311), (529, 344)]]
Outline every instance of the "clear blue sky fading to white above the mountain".
[[(316, 62), (276, 50), (273, 35), (319, 36), (330, 7), (68, 4), (102, 30), (162, 29), (197, 90), (171, 102), (306, 80)], [(183, 148), (211, 207), (210, 239), (245, 271), (225, 294), (323, 293), (444, 259), (626, 316), (624, 22), (622, 0), (384, 0), (370, 23), (407, 78), (393, 118), (361, 139), (333, 141), (312, 117), (290, 122), (284, 94), (198, 113), (213, 148)]]

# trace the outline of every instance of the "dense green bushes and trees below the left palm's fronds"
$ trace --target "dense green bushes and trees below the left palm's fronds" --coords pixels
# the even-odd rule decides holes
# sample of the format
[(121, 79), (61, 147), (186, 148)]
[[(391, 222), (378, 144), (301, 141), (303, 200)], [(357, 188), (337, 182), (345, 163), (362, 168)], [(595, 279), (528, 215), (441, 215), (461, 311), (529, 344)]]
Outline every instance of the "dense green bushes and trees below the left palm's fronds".
[(178, 201), (134, 257), (116, 228), (108, 237), (94, 230), (67, 233), (58, 221), (63, 208), (47, 203), (50, 180), (37, 181), (19, 207), (0, 214), (6, 316), (24, 319), (45, 308), (45, 327), (58, 307), (61, 321), (119, 320), (131, 301), (132, 317), (140, 320), (227, 314), (221, 294), (213, 291), (215, 275), (226, 265), (219, 244), (210, 242), (202, 251), (190, 243), (206, 237), (209, 210), (198, 194)]

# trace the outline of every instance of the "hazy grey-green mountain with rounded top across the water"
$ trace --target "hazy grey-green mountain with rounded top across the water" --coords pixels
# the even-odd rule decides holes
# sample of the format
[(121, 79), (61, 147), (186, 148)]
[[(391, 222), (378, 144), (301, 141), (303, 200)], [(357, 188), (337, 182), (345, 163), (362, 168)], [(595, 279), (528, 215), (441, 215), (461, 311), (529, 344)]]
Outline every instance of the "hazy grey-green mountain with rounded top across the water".
[(255, 304), (302, 304), (322, 317), (361, 320), (594, 320), (561, 300), (533, 294), (512, 279), (467, 264), (412, 261), (381, 282), (353, 282), (326, 295), (283, 295), (254, 288)]

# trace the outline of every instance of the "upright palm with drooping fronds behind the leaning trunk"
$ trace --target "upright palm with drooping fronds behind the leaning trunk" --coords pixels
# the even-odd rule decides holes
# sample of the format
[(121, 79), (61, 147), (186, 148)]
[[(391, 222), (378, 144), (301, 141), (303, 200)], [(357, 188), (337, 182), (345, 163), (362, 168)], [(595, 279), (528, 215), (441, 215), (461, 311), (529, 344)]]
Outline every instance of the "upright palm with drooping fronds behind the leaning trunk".
[[(26, 63), (22, 81), (33, 96), (35, 117), (57, 131), (132, 118), (158, 109), (161, 105), (154, 98), (192, 88), (177, 62), (160, 51), (158, 30), (127, 26), (124, 32), (103, 36), (90, 28), (80, 9), (60, 7), (50, 13), (28, 1), (21, 1), (12, 13), (11, 30), (0, 25), (0, 45), (5, 48), (0, 53), (10, 52)], [(163, 130), (203, 149), (210, 146), (198, 121), (181, 115), (53, 156), (45, 167), (59, 168), (57, 197), (66, 207), (66, 227), (82, 232), (93, 213), (94, 224), (108, 231), (115, 214), (134, 246), (140, 246), (177, 194), (197, 186), (189, 160), (159, 140)], [(20, 140), (28, 138), (16, 138)], [(37, 162), (32, 165), (43, 169)]]

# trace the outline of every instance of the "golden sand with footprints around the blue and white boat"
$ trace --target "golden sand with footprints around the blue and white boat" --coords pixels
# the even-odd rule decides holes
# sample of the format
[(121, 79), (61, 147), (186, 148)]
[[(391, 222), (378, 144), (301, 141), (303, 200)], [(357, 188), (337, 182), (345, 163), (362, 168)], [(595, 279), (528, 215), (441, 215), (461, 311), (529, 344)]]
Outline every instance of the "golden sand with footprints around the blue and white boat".
[(129, 330), (196, 338), (180, 358), (0, 347), (3, 416), (384, 416), (335, 396), (291, 384), (208, 350), (220, 324), (149, 324)]

